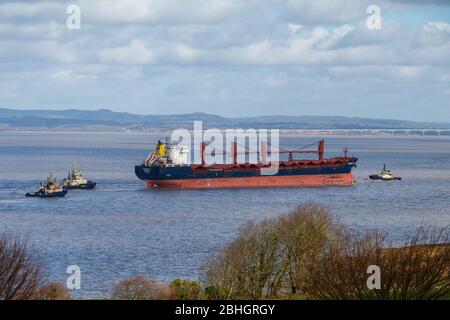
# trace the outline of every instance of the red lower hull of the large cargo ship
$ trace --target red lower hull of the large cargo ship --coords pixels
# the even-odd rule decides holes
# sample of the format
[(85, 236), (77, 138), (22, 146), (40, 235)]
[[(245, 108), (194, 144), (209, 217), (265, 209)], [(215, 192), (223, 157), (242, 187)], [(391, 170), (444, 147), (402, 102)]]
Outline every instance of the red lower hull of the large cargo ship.
[(271, 188), (351, 186), (351, 173), (297, 176), (258, 176), (243, 178), (208, 178), (179, 180), (146, 180), (149, 188), (215, 189), (215, 188)]

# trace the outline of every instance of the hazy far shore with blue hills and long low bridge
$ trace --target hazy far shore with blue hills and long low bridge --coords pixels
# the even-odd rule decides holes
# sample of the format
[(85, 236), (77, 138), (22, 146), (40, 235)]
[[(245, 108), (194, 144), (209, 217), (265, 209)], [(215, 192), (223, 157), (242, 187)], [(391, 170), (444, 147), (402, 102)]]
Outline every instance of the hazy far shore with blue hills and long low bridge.
[[(448, 131), (450, 123), (423, 122), (398, 119), (375, 119), (349, 116), (268, 115), (253, 117), (225, 117), (208, 113), (133, 114), (99, 110), (17, 110), (0, 108), (0, 131), (73, 131), (73, 132), (171, 132), (193, 129), (194, 123), (203, 129), (279, 129), (287, 134), (317, 135), (354, 134), (385, 135), (394, 131), (419, 135), (438, 135)], [(199, 123), (200, 122), (200, 123)], [(301, 131), (298, 131), (301, 130)], [(331, 133), (328, 132), (331, 130)], [(406, 130), (406, 131), (405, 131)], [(403, 132), (400, 132), (403, 131)]]

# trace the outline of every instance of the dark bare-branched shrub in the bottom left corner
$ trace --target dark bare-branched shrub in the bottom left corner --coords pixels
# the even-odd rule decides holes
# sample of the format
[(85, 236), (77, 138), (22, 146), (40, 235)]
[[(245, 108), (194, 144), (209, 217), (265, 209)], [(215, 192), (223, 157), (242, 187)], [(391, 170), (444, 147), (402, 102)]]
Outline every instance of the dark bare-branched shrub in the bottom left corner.
[(43, 261), (19, 237), (0, 235), (0, 300), (33, 299), (45, 280)]

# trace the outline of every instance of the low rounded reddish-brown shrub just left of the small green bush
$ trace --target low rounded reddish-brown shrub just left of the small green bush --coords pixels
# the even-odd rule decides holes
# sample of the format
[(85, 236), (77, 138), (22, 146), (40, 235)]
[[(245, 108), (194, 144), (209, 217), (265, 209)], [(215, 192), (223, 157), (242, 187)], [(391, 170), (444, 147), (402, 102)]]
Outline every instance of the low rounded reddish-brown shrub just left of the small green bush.
[(144, 276), (136, 276), (114, 285), (112, 298), (119, 300), (166, 300), (171, 298), (171, 294), (166, 285)]

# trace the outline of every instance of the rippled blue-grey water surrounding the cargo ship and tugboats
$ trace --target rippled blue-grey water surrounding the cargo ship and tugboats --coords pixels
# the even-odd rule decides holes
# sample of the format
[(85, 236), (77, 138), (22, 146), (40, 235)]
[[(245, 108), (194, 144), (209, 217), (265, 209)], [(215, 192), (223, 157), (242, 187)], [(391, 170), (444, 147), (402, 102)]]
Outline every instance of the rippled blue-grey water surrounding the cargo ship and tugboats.
[[(329, 137), (327, 155), (347, 146), (360, 158), (354, 187), (202, 191), (146, 190), (134, 176), (158, 135), (0, 132), (0, 230), (28, 238), (47, 259), (52, 280), (82, 270), (78, 297), (108, 296), (114, 282), (144, 274), (196, 278), (205, 257), (248, 221), (276, 216), (307, 200), (324, 204), (356, 230), (393, 239), (419, 225), (450, 223), (449, 137)], [(283, 138), (298, 147), (317, 138)], [(96, 190), (64, 199), (25, 198), (49, 171), (63, 178), (72, 161)], [(370, 182), (383, 162), (401, 182)]]

